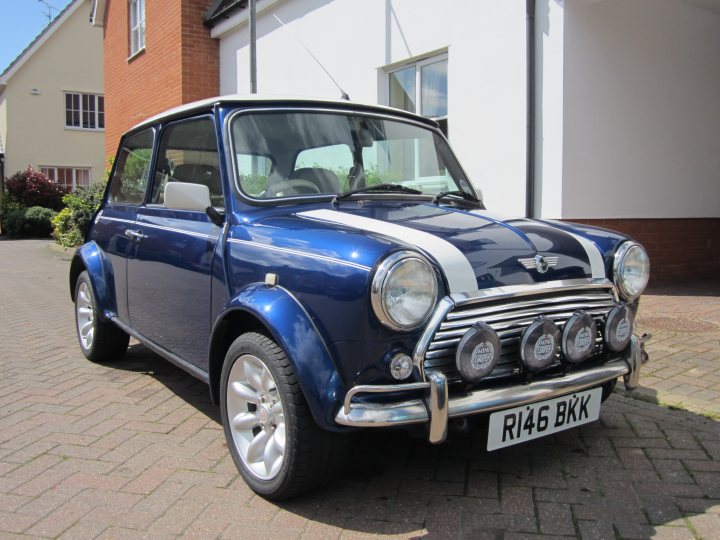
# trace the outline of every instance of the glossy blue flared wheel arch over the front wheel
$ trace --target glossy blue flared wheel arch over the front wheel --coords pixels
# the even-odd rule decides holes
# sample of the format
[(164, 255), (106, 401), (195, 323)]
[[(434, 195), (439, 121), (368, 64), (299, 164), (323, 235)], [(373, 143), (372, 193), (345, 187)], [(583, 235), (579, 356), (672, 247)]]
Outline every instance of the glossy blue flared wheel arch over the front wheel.
[(308, 313), (282, 287), (251, 285), (230, 301), (217, 319), (208, 363), (213, 403), (220, 402), (220, 375), (227, 350), (246, 332), (265, 334), (283, 349), (315, 422), (324, 429), (343, 430), (334, 421), (345, 395), (335, 363)]

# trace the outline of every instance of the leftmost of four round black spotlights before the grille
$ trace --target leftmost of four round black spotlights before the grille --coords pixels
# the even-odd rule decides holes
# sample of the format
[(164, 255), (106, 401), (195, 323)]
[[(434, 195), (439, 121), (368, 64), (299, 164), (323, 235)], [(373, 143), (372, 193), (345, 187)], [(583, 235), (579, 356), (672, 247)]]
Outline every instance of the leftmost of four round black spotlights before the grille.
[(500, 360), (500, 338), (490, 325), (478, 323), (460, 340), (455, 353), (455, 365), (469, 382), (479, 382), (495, 369)]

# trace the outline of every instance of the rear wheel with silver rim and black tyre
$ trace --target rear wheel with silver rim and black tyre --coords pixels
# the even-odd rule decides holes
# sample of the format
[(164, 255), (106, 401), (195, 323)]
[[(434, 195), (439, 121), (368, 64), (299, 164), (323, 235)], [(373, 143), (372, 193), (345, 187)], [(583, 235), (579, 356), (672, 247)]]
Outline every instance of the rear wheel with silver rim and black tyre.
[(80, 350), (88, 360), (109, 362), (127, 351), (130, 336), (110, 321), (101, 321), (98, 317), (87, 271), (81, 273), (75, 283), (75, 329)]

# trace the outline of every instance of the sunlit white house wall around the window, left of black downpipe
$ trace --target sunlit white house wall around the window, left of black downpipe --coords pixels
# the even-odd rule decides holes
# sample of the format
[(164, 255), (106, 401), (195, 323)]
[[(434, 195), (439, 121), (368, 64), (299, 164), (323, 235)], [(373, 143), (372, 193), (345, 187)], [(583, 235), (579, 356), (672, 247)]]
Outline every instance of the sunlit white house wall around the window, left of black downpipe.
[[(246, 93), (248, 26), (228, 23), (213, 33), (220, 38), (220, 91)], [(453, 148), (489, 208), (524, 213), (525, 2), (280, 1), (258, 13), (257, 35), (262, 94), (340, 97), (297, 39), (352, 100), (368, 103), (386, 104), (384, 66), (447, 52)]]

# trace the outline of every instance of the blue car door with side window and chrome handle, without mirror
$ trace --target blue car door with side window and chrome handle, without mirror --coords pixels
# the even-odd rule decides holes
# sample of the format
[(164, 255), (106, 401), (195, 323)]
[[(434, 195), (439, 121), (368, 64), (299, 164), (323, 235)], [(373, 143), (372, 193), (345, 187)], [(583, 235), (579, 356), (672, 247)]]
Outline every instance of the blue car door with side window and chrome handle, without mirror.
[(137, 211), (134, 256), (128, 259), (133, 328), (180, 359), (207, 370), (211, 285), (222, 232), (202, 211), (164, 204), (169, 182), (208, 187), (224, 208), (218, 145), (211, 116), (167, 125), (161, 135), (148, 203)]

